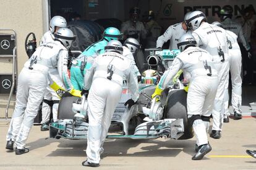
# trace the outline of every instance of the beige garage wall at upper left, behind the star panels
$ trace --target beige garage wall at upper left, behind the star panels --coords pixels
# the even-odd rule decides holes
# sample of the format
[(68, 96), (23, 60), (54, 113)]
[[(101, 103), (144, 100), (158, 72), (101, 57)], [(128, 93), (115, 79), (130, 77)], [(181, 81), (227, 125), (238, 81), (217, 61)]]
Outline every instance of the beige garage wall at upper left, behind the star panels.
[[(24, 47), (27, 34), (35, 33), (38, 42), (43, 34), (43, 1), (45, 0), (0, 1), (0, 29), (12, 29), (17, 33), (19, 72), (28, 59)], [(11, 63), (12, 60), (0, 58), (0, 73), (11, 72)]]

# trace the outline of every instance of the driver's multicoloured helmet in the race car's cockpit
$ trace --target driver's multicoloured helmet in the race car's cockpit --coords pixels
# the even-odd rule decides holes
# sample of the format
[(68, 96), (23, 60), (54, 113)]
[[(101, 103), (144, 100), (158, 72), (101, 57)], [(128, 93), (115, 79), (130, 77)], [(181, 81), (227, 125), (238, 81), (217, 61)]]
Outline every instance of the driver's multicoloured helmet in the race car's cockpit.
[(156, 70), (145, 70), (142, 73), (142, 83), (143, 84), (157, 84), (160, 79), (158, 71)]

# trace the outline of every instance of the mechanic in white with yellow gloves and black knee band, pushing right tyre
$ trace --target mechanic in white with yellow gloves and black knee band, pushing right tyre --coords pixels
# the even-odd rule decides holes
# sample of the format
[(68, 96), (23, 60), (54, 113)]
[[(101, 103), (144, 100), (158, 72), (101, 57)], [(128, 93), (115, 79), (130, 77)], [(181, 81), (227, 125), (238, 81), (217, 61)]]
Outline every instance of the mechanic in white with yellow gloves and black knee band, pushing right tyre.
[(218, 73), (213, 66), (212, 56), (207, 51), (195, 47), (196, 44), (191, 34), (181, 36), (177, 47), (182, 52), (174, 59), (169, 70), (164, 72), (152, 97), (160, 95), (180, 69), (190, 73), (187, 115), (197, 137), (198, 146), (192, 160), (201, 160), (211, 151), (207, 131), (218, 87)]

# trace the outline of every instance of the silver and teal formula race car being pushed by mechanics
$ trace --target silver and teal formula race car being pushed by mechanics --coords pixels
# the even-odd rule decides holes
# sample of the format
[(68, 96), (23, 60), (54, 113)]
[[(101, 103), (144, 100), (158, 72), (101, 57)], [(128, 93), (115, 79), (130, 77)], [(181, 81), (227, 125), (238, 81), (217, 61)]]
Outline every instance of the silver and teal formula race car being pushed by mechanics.
[[(148, 70), (142, 73), (139, 83), (139, 100), (131, 108), (124, 106), (130, 99), (129, 89), (124, 83), (122, 97), (114, 111), (111, 124), (120, 126), (121, 133), (109, 135), (108, 139), (190, 139), (194, 136), (187, 118), (187, 92), (184, 84), (170, 84), (161, 97), (151, 99), (156, 83), (163, 72), (179, 54), (178, 50), (146, 49)], [(83, 115), (83, 116), (81, 116)], [(87, 99), (74, 97), (69, 93), (62, 96), (58, 108), (58, 121), (51, 123), (49, 134), (52, 138), (87, 139)]]

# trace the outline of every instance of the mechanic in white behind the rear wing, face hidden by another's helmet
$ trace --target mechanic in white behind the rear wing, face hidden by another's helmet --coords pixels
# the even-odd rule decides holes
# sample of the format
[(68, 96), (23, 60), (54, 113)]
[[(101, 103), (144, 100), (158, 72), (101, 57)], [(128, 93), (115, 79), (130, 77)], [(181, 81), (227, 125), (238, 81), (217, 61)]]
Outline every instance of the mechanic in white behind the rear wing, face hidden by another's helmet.
[(164, 42), (170, 40), (169, 50), (177, 49), (177, 42), (179, 41), (179, 38), (189, 30), (189, 27), (185, 22), (189, 14), (190, 12), (185, 14), (183, 22), (169, 26), (164, 34), (158, 37), (156, 41), (156, 48), (162, 49)]

